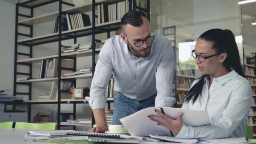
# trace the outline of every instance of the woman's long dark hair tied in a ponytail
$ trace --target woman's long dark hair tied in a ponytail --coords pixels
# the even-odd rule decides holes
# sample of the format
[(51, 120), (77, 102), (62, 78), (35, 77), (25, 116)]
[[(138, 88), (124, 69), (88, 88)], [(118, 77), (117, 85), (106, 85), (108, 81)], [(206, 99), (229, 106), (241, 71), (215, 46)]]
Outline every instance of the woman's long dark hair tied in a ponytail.
[[(210, 29), (200, 35), (198, 39), (211, 42), (212, 48), (216, 50), (216, 53), (227, 53), (227, 58), (223, 62), (224, 66), (228, 70), (234, 69), (239, 75), (244, 77), (235, 37), (229, 29)], [(192, 100), (192, 104), (194, 104), (198, 97), (200, 95), (202, 96), (203, 85), (205, 84), (204, 79), (206, 76), (208, 75), (199, 77), (199, 81), (189, 89), (186, 94), (186, 102)]]

